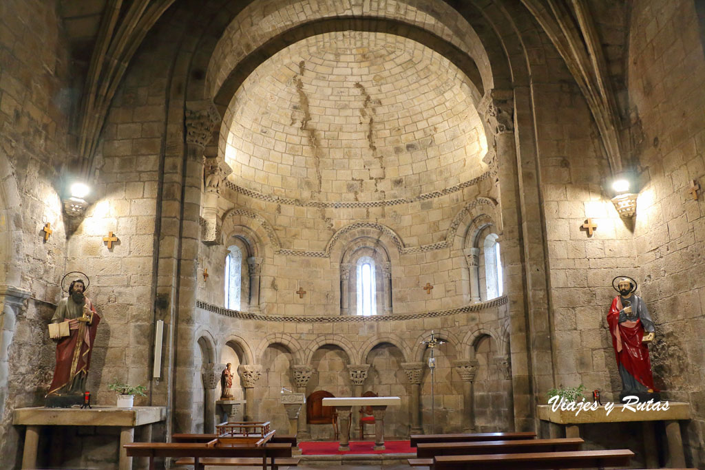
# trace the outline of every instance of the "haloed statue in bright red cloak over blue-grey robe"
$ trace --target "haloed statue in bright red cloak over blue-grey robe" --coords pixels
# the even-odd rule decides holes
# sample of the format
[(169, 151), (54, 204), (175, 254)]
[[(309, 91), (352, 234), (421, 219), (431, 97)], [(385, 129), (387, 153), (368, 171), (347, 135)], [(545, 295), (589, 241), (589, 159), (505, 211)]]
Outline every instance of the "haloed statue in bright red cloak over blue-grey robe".
[(654, 321), (642, 297), (635, 295), (637, 283), (632, 278), (618, 276), (615, 297), (607, 314), (612, 345), (617, 357), (617, 367), (622, 378), (620, 400), (635, 396), (640, 402), (659, 400), (654, 387), (649, 359), (649, 342), (654, 340)]

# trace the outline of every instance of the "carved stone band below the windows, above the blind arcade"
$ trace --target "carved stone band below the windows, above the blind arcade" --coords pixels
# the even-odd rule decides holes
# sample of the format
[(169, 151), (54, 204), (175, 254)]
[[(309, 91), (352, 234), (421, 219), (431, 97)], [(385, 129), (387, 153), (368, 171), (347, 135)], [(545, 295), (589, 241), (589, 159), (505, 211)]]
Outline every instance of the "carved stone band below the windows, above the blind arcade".
[(508, 302), (508, 297), (503, 295), (502, 297), (497, 297), (496, 299), (491, 299), (487, 302), (480, 302), (479, 304), (470, 304), (457, 309), (448, 310), (436, 310), (427, 311), (422, 314), (407, 314), (407, 315), (345, 315), (345, 316), (283, 316), (283, 315), (262, 315), (262, 314), (251, 314), (246, 311), (229, 310), (225, 307), (217, 307), (216, 305), (209, 304), (207, 302), (202, 302), (201, 300), (196, 301), (196, 307), (199, 309), (204, 309), (210, 311), (214, 314), (219, 314), (223, 316), (230, 316), (235, 319), (243, 320), (259, 320), (259, 321), (292, 321), (294, 323), (349, 323), (349, 322), (372, 322), (372, 321), (409, 321), (417, 319), (427, 319), (436, 318), (439, 316), (449, 316), (462, 313), (472, 313), (474, 311), (481, 311), (485, 309), (491, 309), (494, 307), (499, 307)]

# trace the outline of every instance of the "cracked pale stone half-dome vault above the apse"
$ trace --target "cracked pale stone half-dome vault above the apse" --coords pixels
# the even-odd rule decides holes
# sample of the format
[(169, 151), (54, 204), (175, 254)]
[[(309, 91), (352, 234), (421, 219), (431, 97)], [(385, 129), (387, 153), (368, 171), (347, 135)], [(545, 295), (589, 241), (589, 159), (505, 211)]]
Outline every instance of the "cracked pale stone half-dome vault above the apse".
[(415, 197), (471, 180), (487, 146), (468, 83), (405, 37), (348, 31), (296, 42), (262, 63), (228, 107), (229, 178), (327, 202)]

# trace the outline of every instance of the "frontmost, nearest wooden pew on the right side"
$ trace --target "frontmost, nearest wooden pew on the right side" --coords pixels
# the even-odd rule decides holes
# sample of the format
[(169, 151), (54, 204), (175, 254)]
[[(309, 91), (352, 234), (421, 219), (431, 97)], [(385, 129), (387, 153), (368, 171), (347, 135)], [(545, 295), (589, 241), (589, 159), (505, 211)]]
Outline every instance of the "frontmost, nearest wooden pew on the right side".
[(434, 470), (543, 470), (584, 469), (627, 466), (634, 452), (620, 450), (578, 450), (532, 454), (440, 455), (434, 457)]

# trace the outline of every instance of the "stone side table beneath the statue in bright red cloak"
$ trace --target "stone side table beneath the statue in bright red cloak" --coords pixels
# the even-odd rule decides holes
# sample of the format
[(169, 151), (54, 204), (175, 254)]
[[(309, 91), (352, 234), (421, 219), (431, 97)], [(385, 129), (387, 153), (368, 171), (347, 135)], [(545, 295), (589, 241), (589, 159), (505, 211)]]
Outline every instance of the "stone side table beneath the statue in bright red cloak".
[[(635, 408), (632, 406), (632, 408)], [(623, 423), (627, 421), (642, 421), (644, 430), (644, 447), (646, 449), (646, 466), (658, 468), (658, 457), (656, 457), (656, 435), (654, 433), (654, 423), (652, 421), (664, 421), (666, 423), (666, 439), (668, 440), (668, 468), (685, 468), (685, 454), (683, 452), (683, 440), (680, 435), (679, 420), (690, 419), (690, 404), (684, 402), (668, 402), (667, 410), (642, 411), (636, 409), (631, 411), (625, 409), (623, 404), (616, 404), (610, 414), (604, 406), (596, 410), (580, 412), (575, 416), (575, 412), (561, 411), (555, 412), (551, 405), (540, 404), (537, 407), (539, 419), (565, 426), (566, 438), (580, 437), (580, 424), (592, 423)]]

